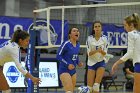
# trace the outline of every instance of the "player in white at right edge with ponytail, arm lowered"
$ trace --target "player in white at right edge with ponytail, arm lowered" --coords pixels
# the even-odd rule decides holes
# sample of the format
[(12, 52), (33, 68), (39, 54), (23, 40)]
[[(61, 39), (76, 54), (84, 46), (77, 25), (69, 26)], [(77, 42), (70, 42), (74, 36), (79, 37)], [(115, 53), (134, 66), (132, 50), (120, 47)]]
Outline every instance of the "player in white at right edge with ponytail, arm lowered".
[(140, 93), (140, 16), (137, 13), (134, 13), (131, 16), (126, 17), (123, 24), (125, 30), (128, 32), (127, 53), (114, 63), (112, 74), (114, 74), (119, 64), (132, 58), (134, 65), (133, 93)]

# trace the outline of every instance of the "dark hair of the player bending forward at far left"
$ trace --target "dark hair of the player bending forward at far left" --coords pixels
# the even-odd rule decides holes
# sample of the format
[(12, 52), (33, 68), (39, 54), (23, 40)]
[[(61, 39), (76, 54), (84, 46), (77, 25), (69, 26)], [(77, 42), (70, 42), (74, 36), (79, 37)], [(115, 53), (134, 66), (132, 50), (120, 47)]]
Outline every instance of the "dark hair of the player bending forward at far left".
[(19, 42), (19, 39), (26, 39), (27, 37), (29, 37), (29, 33), (27, 33), (27, 31), (23, 31), (23, 30), (16, 30), (12, 36), (12, 39), (11, 39), (11, 42), (16, 42), (18, 43)]

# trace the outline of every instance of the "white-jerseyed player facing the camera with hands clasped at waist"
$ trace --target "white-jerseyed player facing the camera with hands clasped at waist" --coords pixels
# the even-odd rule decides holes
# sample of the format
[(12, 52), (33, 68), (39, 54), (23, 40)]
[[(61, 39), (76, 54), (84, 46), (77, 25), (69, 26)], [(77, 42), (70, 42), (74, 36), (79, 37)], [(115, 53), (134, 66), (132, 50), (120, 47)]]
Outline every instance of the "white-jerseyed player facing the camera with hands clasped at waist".
[(102, 34), (100, 21), (93, 23), (93, 33), (87, 39), (88, 72), (87, 85), (90, 91), (99, 93), (99, 86), (105, 71), (105, 55), (108, 50), (108, 40)]

